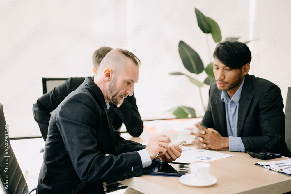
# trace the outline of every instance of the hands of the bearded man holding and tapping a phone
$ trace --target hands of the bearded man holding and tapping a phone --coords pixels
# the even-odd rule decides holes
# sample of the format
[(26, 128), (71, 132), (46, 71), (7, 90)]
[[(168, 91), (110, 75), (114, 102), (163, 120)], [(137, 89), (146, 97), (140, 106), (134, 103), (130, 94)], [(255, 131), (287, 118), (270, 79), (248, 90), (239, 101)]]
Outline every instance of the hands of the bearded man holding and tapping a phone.
[(152, 160), (158, 154), (164, 154), (165, 156), (159, 158), (159, 160), (162, 162), (172, 162), (181, 156), (182, 149), (177, 145), (169, 146), (169, 142), (171, 142), (170, 137), (166, 135), (153, 136), (150, 138), (145, 149), (150, 154)]

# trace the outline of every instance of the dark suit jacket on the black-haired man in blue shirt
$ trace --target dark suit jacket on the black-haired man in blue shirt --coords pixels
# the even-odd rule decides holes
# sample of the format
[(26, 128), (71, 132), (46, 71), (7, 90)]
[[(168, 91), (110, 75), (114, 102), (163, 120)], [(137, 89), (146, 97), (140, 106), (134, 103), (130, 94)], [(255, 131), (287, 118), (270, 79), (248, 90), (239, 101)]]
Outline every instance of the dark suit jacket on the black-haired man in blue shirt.
[[(268, 151), (291, 157), (285, 143), (285, 115), (280, 88), (262, 78), (245, 75), (239, 100), (237, 136), (245, 151)], [(214, 82), (209, 89), (209, 102), (201, 125), (228, 137), (225, 103)]]

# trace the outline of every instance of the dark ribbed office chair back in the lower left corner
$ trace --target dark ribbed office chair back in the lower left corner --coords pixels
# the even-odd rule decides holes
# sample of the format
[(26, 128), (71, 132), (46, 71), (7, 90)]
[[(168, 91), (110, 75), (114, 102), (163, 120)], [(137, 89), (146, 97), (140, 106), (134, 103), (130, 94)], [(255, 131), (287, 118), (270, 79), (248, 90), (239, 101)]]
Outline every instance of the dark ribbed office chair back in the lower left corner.
[[(0, 184), (6, 194), (27, 194), (28, 186), (12, 150), (9, 139), (9, 127), (6, 125), (3, 105), (0, 103)], [(8, 176), (7, 176), (8, 175)], [(8, 177), (8, 179), (7, 179)], [(8, 189), (6, 189), (8, 188)]]

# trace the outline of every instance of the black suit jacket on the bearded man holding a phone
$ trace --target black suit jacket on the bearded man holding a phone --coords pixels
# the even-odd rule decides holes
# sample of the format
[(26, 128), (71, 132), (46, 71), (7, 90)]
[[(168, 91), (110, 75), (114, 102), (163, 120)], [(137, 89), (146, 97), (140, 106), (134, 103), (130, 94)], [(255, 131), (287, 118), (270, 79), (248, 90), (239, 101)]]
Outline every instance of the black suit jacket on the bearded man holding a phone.
[(105, 193), (102, 182), (143, 174), (137, 151), (144, 148), (113, 129), (104, 96), (87, 77), (52, 114), (36, 193)]

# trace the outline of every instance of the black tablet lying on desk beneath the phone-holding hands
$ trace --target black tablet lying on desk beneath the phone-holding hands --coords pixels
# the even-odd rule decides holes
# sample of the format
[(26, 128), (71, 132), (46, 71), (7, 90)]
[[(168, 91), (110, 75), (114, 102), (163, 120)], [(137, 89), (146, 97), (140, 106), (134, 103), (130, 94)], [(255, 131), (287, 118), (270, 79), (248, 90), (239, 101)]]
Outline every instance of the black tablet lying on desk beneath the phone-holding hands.
[(181, 177), (191, 174), (189, 163), (163, 163), (153, 161), (152, 164), (143, 169), (144, 175)]

